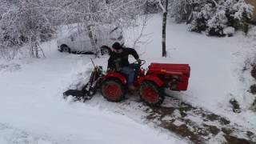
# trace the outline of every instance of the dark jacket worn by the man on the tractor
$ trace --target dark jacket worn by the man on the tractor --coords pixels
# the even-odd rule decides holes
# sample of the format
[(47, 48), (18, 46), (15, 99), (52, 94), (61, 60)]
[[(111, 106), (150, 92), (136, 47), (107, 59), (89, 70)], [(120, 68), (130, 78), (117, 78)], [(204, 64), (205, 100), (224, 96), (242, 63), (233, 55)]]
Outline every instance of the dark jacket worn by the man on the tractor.
[(133, 55), (135, 59), (138, 59), (138, 54), (136, 50), (131, 48), (122, 48), (122, 53), (120, 54), (111, 52), (107, 68), (121, 70), (122, 67), (129, 66), (130, 63), (128, 61), (128, 58), (130, 54)]

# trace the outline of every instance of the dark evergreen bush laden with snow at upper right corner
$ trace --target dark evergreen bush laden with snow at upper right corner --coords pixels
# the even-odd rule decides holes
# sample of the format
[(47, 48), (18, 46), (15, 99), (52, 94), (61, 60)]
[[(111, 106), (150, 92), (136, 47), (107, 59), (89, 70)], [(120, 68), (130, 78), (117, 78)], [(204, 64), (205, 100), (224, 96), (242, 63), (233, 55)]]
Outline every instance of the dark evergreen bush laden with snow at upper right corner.
[[(227, 27), (247, 32), (253, 6), (244, 0), (210, 0), (194, 7), (190, 30), (206, 31), (208, 35), (225, 36)], [(230, 32), (230, 31), (229, 31)], [(229, 36), (232, 34), (228, 34)]]

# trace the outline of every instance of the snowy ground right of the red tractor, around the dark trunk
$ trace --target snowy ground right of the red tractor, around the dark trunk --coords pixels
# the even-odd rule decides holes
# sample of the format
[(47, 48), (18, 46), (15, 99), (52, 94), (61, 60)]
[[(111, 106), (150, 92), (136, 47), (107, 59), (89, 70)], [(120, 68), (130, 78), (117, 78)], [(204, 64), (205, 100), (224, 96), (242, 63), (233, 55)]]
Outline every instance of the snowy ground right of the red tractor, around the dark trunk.
[[(150, 42), (139, 46), (139, 50), (142, 59), (148, 63), (190, 64), (189, 90), (182, 93), (170, 92), (170, 95), (193, 106), (202, 106), (215, 114), (221, 114), (242, 126), (256, 129), (256, 114), (248, 110), (255, 96), (247, 94), (250, 85), (246, 84), (242, 74), (246, 57), (255, 54), (256, 34), (252, 34), (255, 30), (251, 31), (250, 37), (238, 32), (231, 38), (215, 38), (190, 33), (186, 25), (169, 22), (166, 28), (169, 58), (160, 58), (161, 22), (159, 17), (151, 19), (145, 37)], [(248, 77), (250, 75), (247, 74)], [(241, 114), (233, 113), (230, 98), (238, 100), (242, 107)]]

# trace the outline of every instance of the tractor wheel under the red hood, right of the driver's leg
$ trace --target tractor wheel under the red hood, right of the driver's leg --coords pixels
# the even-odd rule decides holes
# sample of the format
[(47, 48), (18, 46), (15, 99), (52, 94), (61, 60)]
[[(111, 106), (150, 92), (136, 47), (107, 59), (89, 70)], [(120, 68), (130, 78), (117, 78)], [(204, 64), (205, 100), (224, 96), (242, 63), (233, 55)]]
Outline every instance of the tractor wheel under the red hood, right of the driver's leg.
[(142, 82), (138, 88), (138, 93), (142, 101), (148, 106), (161, 106), (165, 100), (163, 88), (154, 82)]

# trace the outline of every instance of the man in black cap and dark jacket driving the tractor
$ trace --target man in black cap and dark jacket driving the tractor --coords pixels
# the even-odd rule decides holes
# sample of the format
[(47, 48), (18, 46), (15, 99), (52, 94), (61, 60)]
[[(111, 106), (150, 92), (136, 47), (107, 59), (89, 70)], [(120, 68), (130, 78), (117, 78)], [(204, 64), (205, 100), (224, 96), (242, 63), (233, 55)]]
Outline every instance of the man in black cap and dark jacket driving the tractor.
[(136, 68), (133, 65), (130, 65), (128, 58), (131, 54), (137, 60), (138, 64), (140, 64), (142, 61), (139, 59), (136, 50), (124, 48), (118, 42), (115, 42), (112, 48), (113, 51), (110, 53), (110, 58), (108, 60), (108, 70), (116, 70), (122, 74), (126, 74), (129, 90), (135, 90), (134, 76)]

